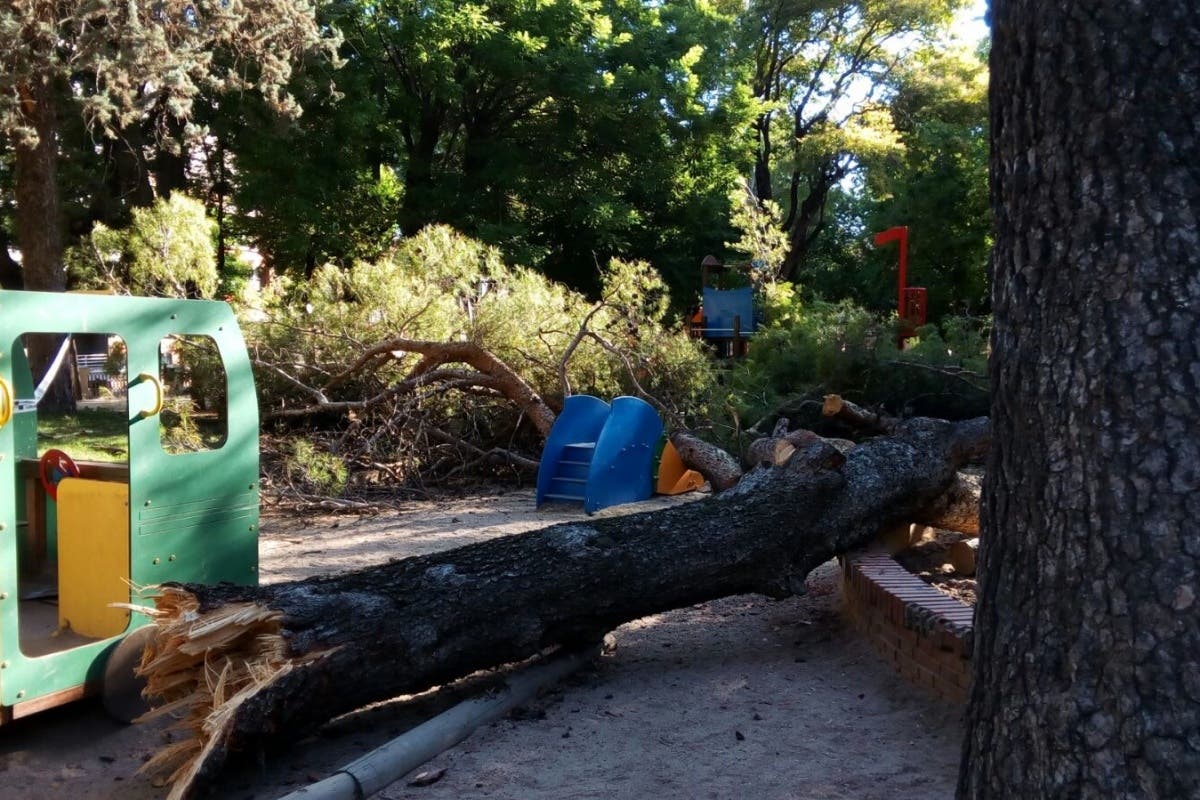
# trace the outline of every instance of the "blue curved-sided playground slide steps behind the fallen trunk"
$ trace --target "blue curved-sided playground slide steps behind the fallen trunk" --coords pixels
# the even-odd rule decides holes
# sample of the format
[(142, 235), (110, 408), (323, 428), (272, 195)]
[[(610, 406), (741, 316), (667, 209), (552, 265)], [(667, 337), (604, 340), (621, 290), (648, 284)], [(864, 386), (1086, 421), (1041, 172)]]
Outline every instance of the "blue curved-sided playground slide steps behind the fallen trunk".
[(593, 513), (648, 499), (661, 437), (662, 420), (646, 401), (618, 397), (610, 405), (590, 395), (568, 397), (538, 468), (538, 506), (582, 503)]

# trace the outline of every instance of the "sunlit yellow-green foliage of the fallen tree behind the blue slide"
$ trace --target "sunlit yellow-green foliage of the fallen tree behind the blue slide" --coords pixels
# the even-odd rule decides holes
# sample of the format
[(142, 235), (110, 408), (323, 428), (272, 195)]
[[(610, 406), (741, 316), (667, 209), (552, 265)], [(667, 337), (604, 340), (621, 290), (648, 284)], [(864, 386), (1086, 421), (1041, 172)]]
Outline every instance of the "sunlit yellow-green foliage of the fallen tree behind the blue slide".
[[(581, 338), (566, 366), (571, 392), (613, 397), (644, 391), (667, 407), (702, 411), (712, 371), (700, 347), (673, 325), (662, 277), (644, 263), (614, 260), (600, 283), (598, 308), (538, 272), (505, 264), (497, 248), (434, 225), (379, 260), (349, 270), (319, 269), (294, 289), (281, 281), (248, 314), (245, 330), (262, 361), (288, 365), (308, 386), (325, 385), (367, 345), (391, 337), (474, 342), (556, 405), (566, 389), (560, 361), (588, 318), (592, 335)], [(263, 317), (266, 321), (254, 321)], [(420, 360), (397, 350), (338, 381), (330, 393), (376, 396), (410, 375)], [(257, 379), (264, 410), (311, 401), (275, 371), (263, 369)], [(414, 446), (424, 425), (480, 446), (539, 446), (522, 439), (529, 432), (510, 402), (466, 385), (406, 393), (370, 419), (391, 432), (372, 443), (378, 451), (368, 453), (371, 461), (394, 463)], [(414, 420), (414, 429), (406, 432), (397, 419)]]

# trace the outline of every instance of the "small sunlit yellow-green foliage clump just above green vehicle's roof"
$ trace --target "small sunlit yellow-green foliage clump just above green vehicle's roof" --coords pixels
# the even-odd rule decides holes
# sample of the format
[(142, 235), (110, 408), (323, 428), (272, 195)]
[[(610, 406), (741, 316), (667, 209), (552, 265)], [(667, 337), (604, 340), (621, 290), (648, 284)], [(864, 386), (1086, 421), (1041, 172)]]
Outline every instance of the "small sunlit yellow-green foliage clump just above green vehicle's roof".
[(128, 228), (96, 224), (67, 252), (67, 271), (89, 289), (209, 297), (217, 288), (212, 234), (204, 206), (175, 193), (134, 209)]

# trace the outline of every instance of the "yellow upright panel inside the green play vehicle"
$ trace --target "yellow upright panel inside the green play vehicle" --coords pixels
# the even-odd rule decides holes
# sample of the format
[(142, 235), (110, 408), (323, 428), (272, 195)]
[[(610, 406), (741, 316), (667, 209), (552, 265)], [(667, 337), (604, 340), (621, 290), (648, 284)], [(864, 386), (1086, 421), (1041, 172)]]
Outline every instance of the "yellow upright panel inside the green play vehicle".
[(59, 626), (107, 638), (130, 621), (130, 487), (65, 477), (59, 483)]

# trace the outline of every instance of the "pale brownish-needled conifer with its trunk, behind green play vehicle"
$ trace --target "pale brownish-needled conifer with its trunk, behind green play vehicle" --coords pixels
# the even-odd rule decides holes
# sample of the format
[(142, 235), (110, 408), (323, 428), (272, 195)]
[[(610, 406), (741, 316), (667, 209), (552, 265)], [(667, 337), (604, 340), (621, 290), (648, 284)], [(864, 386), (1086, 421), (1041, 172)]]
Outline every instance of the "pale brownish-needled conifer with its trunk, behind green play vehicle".
[[(0, 8), (0, 132), (16, 156), (25, 287), (61, 290), (61, 115), (107, 137), (187, 120), (202, 92), (256, 89), (284, 113), (292, 64), (334, 40), (307, 0), (14, 0)], [(136, 144), (136, 143), (134, 143)]]

